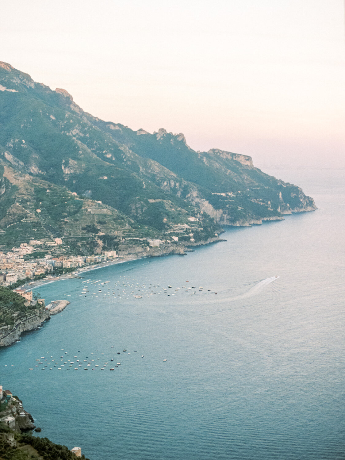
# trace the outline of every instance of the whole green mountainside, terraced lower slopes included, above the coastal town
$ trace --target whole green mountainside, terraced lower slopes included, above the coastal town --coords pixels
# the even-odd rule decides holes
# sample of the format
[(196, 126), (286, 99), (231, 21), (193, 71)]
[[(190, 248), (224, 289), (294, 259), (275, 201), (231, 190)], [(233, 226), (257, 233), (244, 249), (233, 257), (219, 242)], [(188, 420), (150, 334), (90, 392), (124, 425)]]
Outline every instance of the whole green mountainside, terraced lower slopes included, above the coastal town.
[(167, 238), (188, 224), (186, 213), (200, 224), (189, 225), (181, 241), (189, 233), (205, 240), (221, 231), (219, 223), (315, 209), (299, 187), (253, 167), (250, 157), (196, 152), (182, 134), (99, 120), (67, 92), (7, 64), (0, 63), (0, 83), (16, 91), (0, 93), (0, 242), (7, 246), (35, 232), (97, 252), (102, 234)]

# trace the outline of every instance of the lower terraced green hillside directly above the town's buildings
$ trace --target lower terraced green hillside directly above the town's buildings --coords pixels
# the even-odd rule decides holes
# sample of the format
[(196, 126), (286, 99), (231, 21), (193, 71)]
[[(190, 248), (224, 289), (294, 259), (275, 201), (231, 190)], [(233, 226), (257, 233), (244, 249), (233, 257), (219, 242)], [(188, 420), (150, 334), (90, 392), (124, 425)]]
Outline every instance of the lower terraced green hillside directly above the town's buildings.
[(195, 208), (182, 200), (184, 207), (170, 200), (147, 200), (150, 207), (136, 221), (65, 186), (19, 172), (0, 157), (1, 173), (0, 228), (4, 233), (0, 242), (7, 247), (18, 247), (30, 238), (52, 241), (61, 237), (68, 242), (69, 252), (87, 255), (116, 250), (126, 239), (170, 238), (175, 233), (181, 238), (186, 231), (199, 231), (199, 241), (207, 240), (219, 229), (205, 214), (205, 228), (197, 230), (200, 220), (188, 220)]

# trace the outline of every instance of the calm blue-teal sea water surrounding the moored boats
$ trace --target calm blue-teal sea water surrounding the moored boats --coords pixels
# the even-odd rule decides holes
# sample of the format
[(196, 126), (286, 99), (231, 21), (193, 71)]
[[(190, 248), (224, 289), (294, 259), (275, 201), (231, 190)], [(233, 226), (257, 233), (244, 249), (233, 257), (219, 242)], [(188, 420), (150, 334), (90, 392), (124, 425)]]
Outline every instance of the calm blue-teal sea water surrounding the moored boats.
[(0, 383), (42, 436), (92, 460), (345, 458), (344, 171), (269, 173), (319, 209), (38, 289), (71, 305), (0, 350)]

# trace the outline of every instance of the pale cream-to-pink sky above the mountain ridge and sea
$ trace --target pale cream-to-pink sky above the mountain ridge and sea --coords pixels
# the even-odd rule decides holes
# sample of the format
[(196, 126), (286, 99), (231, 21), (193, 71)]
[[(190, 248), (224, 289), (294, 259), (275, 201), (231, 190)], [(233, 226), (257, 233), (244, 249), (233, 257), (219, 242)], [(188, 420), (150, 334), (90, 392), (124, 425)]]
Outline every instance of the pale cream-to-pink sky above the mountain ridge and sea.
[(0, 60), (259, 167), (345, 168), (343, 0), (0, 0)]

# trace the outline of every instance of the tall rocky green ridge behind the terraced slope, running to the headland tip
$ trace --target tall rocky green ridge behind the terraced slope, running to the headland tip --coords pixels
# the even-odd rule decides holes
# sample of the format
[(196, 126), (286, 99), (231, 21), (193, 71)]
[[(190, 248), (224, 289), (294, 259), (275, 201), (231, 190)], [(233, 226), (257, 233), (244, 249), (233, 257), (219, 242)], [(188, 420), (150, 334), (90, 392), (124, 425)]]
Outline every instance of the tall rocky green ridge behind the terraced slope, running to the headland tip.
[[(262, 173), (248, 156), (195, 152), (182, 134), (134, 132), (99, 120), (65, 90), (52, 91), (6, 63), (0, 63), (0, 125), (4, 164), (161, 233), (182, 222), (173, 215), (177, 210), (198, 219), (208, 237), (219, 231), (215, 222), (248, 225), (315, 209), (299, 187)], [(15, 200), (15, 186), (3, 195), (1, 219), (9, 217), (3, 213)], [(20, 213), (13, 203), (11, 212)]]

